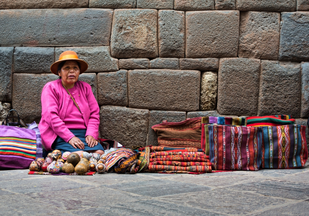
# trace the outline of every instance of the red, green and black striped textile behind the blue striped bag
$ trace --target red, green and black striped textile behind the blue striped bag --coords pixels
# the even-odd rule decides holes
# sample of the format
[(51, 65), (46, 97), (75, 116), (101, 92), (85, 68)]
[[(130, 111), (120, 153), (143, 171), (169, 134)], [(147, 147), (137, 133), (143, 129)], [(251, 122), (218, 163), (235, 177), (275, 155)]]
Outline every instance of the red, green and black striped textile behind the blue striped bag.
[[(282, 117), (286, 118), (286, 117)], [(246, 125), (248, 127), (262, 127), (262, 126), (280, 126), (280, 125), (293, 125), (295, 119), (281, 119), (272, 115), (267, 116), (250, 116), (246, 118)]]

